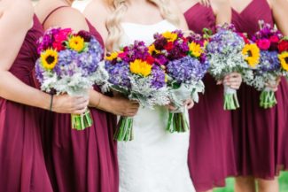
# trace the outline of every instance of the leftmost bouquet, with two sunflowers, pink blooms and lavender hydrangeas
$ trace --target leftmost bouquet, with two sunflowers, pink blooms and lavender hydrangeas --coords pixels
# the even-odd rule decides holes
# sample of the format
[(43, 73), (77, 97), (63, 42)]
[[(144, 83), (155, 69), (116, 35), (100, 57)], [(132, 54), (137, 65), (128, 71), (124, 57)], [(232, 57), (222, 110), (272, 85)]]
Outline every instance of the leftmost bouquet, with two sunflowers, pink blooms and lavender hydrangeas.
[[(99, 42), (88, 32), (75, 34), (71, 28), (51, 28), (38, 41), (40, 58), (35, 74), (41, 89), (51, 94), (87, 96), (97, 81), (98, 63), (103, 58)], [(72, 128), (92, 125), (90, 111), (72, 114)]]

